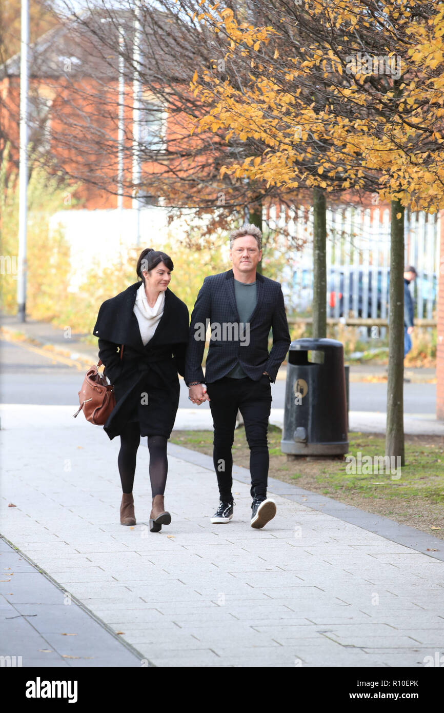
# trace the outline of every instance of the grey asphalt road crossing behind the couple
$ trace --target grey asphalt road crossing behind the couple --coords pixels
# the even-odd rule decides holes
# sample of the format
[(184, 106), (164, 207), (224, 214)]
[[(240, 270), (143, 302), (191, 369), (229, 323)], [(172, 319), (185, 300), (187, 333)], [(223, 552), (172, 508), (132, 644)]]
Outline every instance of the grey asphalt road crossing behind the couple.
[[(78, 407), (84, 367), (77, 369), (60, 357), (41, 354), (28, 344), (0, 340), (0, 399), (4, 404), (73, 405)], [(63, 363), (66, 362), (66, 363)], [(387, 384), (350, 383), (351, 411), (386, 411)], [(285, 381), (272, 384), (274, 408), (284, 405)], [(435, 414), (435, 384), (404, 384), (406, 414)], [(190, 408), (188, 390), (180, 379), (181, 409)], [(207, 403), (200, 409), (208, 409)]]

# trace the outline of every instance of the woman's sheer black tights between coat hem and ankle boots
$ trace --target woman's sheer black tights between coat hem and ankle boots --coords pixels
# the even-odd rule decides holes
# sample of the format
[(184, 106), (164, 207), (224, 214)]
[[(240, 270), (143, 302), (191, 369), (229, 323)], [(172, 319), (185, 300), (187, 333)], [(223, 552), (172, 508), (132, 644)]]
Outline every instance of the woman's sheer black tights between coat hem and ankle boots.
[[(150, 481), (153, 498), (165, 493), (168, 461), (167, 441), (165, 436), (148, 436), (150, 451)], [(140, 445), (140, 426), (138, 421), (130, 421), (120, 434), (118, 468), (123, 493), (133, 492), (135, 458)]]

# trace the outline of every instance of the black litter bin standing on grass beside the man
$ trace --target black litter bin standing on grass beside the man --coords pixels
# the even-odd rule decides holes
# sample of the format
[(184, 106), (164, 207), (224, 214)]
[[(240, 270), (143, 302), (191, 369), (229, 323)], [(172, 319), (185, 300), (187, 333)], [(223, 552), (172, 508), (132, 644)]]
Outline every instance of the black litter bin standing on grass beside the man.
[(344, 348), (336, 339), (296, 339), (286, 369), (282, 453), (347, 453)]

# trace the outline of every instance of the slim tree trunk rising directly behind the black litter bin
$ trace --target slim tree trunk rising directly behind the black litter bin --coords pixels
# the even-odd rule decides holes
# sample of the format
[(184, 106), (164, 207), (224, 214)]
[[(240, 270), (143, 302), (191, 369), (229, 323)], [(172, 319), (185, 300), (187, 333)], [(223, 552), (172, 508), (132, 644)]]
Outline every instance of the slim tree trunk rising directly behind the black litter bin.
[(320, 188), (313, 190), (313, 337), (327, 334), (326, 198)]

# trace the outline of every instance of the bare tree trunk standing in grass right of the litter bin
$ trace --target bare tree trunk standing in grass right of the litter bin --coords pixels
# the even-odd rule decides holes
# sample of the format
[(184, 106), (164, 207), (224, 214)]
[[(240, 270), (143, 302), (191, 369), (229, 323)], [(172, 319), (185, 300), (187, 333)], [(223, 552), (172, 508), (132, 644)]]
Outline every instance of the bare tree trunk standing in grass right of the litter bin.
[[(399, 217), (397, 217), (399, 215)], [(404, 465), (404, 208), (391, 202), (386, 456)]]

